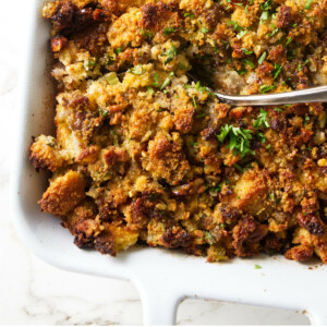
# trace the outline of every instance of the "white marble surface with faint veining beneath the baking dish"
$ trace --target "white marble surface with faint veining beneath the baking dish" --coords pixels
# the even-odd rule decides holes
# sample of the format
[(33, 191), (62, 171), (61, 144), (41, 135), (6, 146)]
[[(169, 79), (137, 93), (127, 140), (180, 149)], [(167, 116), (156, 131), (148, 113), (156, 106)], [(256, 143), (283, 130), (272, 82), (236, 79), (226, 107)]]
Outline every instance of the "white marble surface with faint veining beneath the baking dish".
[[(15, 149), (11, 126), (20, 114), (15, 109), (24, 56), (20, 39), (28, 3), (0, 0), (0, 325), (142, 324), (142, 304), (131, 283), (53, 268), (26, 249), (12, 226), (9, 181)], [(179, 307), (178, 324), (305, 325), (308, 319), (275, 308), (186, 300)]]

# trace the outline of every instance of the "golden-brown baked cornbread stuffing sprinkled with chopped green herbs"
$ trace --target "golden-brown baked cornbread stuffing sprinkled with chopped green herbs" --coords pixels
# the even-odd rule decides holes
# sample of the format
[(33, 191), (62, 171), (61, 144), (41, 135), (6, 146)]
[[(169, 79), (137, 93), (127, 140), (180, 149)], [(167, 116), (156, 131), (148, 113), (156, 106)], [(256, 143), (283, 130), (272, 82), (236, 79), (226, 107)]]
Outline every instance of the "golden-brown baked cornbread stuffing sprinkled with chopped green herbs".
[(77, 246), (327, 263), (327, 104), (210, 92), (327, 84), (327, 0), (61, 0), (43, 15), (57, 135), (31, 161), (52, 172), (41, 210)]

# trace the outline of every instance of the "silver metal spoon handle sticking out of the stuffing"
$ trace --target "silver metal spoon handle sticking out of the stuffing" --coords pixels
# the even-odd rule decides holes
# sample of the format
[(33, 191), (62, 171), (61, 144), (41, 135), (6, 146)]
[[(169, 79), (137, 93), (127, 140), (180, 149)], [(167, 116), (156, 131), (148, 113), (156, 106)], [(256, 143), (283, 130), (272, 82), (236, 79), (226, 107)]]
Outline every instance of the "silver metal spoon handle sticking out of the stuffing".
[(327, 85), (265, 95), (230, 96), (215, 93), (222, 102), (233, 106), (275, 106), (288, 104), (327, 102)]

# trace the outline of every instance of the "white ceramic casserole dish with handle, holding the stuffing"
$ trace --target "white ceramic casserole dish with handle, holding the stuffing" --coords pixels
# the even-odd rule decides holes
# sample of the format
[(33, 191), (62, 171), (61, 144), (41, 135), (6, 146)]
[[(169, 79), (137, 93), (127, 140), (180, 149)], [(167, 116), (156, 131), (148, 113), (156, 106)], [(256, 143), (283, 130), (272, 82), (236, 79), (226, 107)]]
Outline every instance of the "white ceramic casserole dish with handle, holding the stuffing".
[[(53, 132), (55, 102), (47, 65), (51, 61), (49, 26), (40, 16), (44, 0), (29, 1), (31, 24), (11, 190), (14, 225), (27, 246), (41, 259), (62, 269), (131, 280), (141, 293), (145, 324), (174, 324), (179, 301), (197, 296), (305, 310), (313, 323), (327, 325), (325, 266), (308, 269), (307, 265), (281, 256), (207, 264), (203, 257), (144, 247), (112, 258), (78, 250), (57, 218), (40, 213), (37, 201), (46, 189), (47, 175), (35, 172), (28, 161), (28, 148), (33, 135)], [(256, 270), (255, 264), (262, 269)]]

